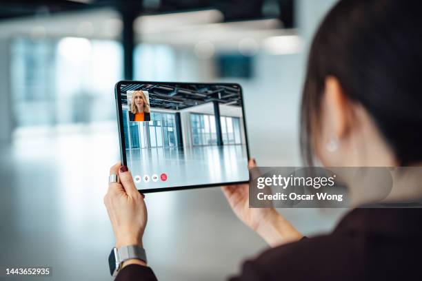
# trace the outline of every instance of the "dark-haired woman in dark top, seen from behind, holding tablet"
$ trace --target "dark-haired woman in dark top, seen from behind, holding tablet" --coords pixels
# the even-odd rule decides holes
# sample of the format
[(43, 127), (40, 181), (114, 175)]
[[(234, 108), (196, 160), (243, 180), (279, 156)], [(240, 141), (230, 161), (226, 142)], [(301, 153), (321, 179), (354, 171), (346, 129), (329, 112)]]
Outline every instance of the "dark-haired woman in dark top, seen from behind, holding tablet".
[[(341, 0), (316, 32), (303, 87), (306, 165), (422, 165), (422, 26), (419, 1)], [(250, 160), (250, 166), (256, 165)], [(143, 196), (128, 168), (114, 165), (104, 198), (116, 247), (142, 245)], [(422, 183), (419, 190), (422, 197)], [(234, 213), (272, 249), (231, 280), (401, 280), (420, 275), (422, 211), (352, 209), (332, 233), (303, 238), (275, 209), (251, 209), (248, 185), (223, 187)], [(400, 194), (403, 200), (418, 196)], [(156, 280), (145, 258), (122, 264), (117, 280)]]

